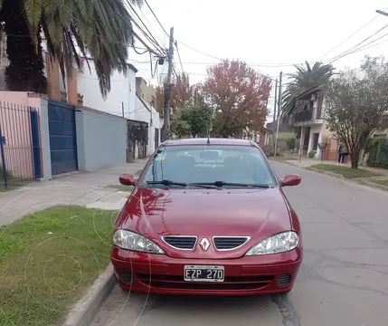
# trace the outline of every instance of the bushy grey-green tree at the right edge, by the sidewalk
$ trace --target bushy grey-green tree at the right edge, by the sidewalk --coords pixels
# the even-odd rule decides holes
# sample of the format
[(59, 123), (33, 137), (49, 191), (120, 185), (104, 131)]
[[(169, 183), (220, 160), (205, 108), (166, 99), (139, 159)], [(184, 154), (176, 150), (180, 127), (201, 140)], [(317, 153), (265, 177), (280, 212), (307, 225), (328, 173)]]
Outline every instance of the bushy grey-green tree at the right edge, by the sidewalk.
[(366, 56), (361, 71), (341, 72), (326, 91), (327, 127), (345, 143), (352, 168), (374, 131), (388, 128), (388, 62)]

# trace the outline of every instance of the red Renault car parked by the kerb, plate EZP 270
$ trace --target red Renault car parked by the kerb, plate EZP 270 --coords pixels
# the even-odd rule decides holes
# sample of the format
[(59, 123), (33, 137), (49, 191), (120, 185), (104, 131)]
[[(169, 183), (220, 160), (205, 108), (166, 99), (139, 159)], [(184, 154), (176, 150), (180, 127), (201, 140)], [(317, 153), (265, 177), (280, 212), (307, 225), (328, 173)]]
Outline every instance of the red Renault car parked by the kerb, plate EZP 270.
[(289, 292), (302, 262), (298, 216), (261, 149), (244, 139), (167, 140), (115, 224), (111, 262), (133, 292)]

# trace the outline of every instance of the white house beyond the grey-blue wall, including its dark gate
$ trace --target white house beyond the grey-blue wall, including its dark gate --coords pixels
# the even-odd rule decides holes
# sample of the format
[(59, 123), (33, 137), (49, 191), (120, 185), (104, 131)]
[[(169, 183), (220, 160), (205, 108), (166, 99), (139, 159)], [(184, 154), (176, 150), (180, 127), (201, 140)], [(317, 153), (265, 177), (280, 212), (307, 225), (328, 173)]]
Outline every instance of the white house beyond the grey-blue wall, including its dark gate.
[(104, 99), (99, 91), (97, 72), (90, 61), (90, 70), (85, 66), (77, 72), (77, 87), (86, 107), (128, 120), (128, 158), (145, 158), (159, 145), (163, 120), (155, 109), (155, 89), (136, 73), (137, 69), (130, 63), (127, 76), (113, 72), (111, 88)]

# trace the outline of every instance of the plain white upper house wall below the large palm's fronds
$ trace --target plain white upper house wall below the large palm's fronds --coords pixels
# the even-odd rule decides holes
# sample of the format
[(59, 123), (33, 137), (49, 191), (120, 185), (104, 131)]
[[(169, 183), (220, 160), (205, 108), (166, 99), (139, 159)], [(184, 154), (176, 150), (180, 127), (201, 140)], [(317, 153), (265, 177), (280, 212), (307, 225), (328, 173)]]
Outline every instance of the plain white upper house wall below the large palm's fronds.
[(136, 72), (129, 69), (128, 75), (113, 72), (110, 77), (110, 91), (107, 99), (99, 91), (99, 79), (93, 62), (84, 62), (83, 72), (77, 73), (77, 87), (80, 95), (83, 95), (83, 105), (96, 110), (122, 116), (124, 105), (124, 117), (131, 118), (136, 110)]

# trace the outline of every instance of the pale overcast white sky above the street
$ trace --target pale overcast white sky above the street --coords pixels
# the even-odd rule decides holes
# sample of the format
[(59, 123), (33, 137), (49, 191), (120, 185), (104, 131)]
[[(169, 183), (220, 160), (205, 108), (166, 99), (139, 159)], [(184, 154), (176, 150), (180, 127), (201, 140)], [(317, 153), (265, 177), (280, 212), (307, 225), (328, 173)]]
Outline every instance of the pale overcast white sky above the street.
[[(147, 0), (147, 3), (167, 33), (174, 26), (178, 49), (177, 52), (175, 48), (174, 54), (175, 71), (188, 73), (191, 83), (203, 81), (207, 66), (220, 59), (240, 59), (274, 80), (283, 72), (283, 83), (287, 83), (287, 73), (295, 71), (293, 64), (328, 63), (336, 59), (332, 64), (337, 70), (344, 70), (359, 67), (366, 54), (388, 53), (388, 16), (375, 12), (377, 9), (388, 12), (388, 2), (383, 0), (358, 3)], [(157, 43), (167, 48), (168, 36), (148, 6), (136, 10)], [(137, 16), (134, 19), (141, 24)], [(380, 29), (383, 30), (378, 32)], [(138, 32), (137, 27), (135, 30)], [(144, 48), (138, 41), (136, 46)], [(350, 54), (344, 55), (346, 52)], [(153, 77), (149, 53), (139, 55), (131, 49), (129, 62), (138, 69), (138, 76), (154, 85), (166, 76), (165, 64), (157, 67)], [(273, 114), (274, 85), (275, 82), (268, 104), (271, 110), (268, 122)]]

